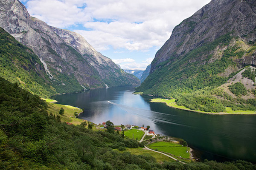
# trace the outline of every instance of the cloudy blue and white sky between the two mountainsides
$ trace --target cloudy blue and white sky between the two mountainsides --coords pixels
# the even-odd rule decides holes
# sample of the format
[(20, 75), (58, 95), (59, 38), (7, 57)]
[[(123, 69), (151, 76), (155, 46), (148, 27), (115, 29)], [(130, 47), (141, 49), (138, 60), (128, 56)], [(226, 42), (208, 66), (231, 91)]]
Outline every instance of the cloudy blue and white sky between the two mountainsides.
[(145, 68), (175, 26), (210, 0), (20, 0), (50, 26), (81, 34), (123, 69)]

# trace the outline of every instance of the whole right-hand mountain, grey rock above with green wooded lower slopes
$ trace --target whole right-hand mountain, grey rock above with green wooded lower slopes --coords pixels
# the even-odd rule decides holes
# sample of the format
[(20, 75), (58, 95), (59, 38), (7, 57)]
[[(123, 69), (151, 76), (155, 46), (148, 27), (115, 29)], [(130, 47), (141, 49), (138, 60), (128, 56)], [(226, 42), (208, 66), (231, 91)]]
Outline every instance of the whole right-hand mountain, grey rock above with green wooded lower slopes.
[[(212, 0), (174, 28), (136, 91), (177, 100), (209, 95), (211, 105), (242, 107), (246, 101), (227, 101), (216, 97), (225, 94), (221, 88), (212, 90), (247, 65), (256, 65), (256, 1)], [(255, 85), (247, 91), (255, 98)]]

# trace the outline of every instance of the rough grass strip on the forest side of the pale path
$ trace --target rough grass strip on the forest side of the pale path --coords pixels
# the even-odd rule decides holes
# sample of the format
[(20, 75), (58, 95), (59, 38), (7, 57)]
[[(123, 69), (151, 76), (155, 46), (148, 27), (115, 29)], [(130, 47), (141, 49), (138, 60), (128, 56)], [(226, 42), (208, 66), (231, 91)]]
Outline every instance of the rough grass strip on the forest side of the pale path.
[(119, 151), (119, 152), (131, 152), (131, 154), (134, 155), (150, 155), (153, 156), (157, 162), (162, 163), (163, 161), (175, 161), (165, 155), (162, 155), (161, 153), (152, 152), (150, 150), (145, 150), (142, 147), (139, 148), (126, 148), (125, 151)]

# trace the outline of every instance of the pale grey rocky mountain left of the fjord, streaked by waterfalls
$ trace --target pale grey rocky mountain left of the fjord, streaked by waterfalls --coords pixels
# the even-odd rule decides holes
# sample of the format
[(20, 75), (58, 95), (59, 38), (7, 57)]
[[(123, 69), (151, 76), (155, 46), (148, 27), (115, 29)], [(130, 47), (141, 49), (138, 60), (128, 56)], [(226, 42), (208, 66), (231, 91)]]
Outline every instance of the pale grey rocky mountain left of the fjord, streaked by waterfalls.
[(57, 93), (140, 84), (81, 35), (31, 17), (18, 0), (0, 0), (0, 27), (39, 57)]

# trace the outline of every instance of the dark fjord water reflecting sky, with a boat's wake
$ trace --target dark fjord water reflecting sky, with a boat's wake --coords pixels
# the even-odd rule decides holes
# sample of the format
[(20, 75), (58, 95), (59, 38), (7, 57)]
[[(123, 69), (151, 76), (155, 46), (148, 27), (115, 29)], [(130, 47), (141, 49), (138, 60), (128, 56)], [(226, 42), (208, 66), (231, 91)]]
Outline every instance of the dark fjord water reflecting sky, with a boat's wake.
[[(133, 87), (95, 89), (54, 96), (58, 103), (84, 109), (79, 118), (94, 123), (150, 125), (158, 134), (179, 137), (201, 150), (201, 159), (256, 162), (256, 115), (209, 115), (151, 103)], [(113, 102), (112, 104), (109, 103)]]

